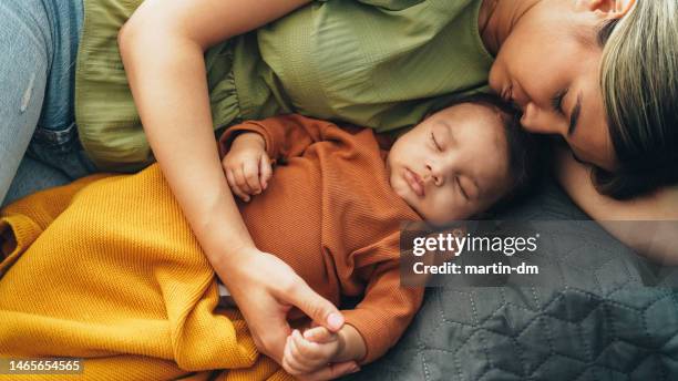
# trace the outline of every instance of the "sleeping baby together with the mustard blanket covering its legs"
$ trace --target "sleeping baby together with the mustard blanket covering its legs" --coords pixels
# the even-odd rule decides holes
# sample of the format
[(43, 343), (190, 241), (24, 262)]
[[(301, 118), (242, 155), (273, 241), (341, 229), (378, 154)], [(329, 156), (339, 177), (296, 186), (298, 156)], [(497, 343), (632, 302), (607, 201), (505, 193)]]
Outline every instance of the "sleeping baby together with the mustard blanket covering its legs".
[[(338, 332), (291, 321), (287, 373), (363, 364), (399, 340), (423, 296), (400, 286), (401, 224), (472, 218), (533, 177), (535, 142), (511, 111), (494, 97), (466, 99), (394, 142), (300, 115), (222, 135), (255, 245), (336, 306), (360, 300), (341, 311)], [(218, 308), (214, 269), (157, 165), (0, 210), (2, 257), (2, 357), (84, 358), (86, 379), (289, 378), (257, 354), (237, 309)]]

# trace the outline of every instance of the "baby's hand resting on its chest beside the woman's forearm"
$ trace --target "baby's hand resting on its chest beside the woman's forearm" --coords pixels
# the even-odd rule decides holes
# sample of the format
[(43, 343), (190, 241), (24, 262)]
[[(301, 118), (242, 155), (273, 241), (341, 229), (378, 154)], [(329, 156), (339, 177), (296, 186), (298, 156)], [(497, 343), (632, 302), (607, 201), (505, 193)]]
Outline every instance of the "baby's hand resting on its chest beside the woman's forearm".
[(222, 166), (230, 190), (244, 202), (265, 190), (273, 175), (266, 142), (256, 132), (236, 136), (230, 151), (222, 159)]

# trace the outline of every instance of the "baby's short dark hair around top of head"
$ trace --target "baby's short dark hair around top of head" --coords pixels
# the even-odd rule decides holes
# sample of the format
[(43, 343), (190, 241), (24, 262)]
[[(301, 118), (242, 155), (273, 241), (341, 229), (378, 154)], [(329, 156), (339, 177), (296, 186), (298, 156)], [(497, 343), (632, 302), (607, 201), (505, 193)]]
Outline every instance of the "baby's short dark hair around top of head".
[(504, 122), (508, 174), (513, 178), (513, 184), (511, 189), (492, 207), (492, 210), (497, 212), (508, 203), (525, 197), (534, 188), (542, 171), (540, 165), (542, 162), (540, 152), (542, 144), (540, 144), (537, 136), (527, 133), (521, 126), (520, 110), (496, 95), (483, 93), (466, 95), (455, 99), (439, 110), (462, 103), (482, 104), (495, 109), (500, 112)]

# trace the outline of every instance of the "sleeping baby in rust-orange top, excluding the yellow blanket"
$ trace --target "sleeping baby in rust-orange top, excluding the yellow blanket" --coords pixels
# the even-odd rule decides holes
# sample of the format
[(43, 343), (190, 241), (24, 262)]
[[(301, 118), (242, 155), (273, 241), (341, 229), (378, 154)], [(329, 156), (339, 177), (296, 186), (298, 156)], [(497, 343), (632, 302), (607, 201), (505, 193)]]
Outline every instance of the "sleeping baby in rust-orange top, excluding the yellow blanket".
[(246, 122), (219, 140), (228, 184), (259, 249), (337, 305), (342, 296), (364, 295), (342, 311), (339, 332), (292, 331), (282, 359), (291, 374), (367, 363), (398, 341), (423, 295), (400, 287), (401, 222), (468, 219), (516, 196), (534, 177), (536, 143), (491, 96), (430, 115), (389, 152), (386, 141), (369, 128), (299, 115)]

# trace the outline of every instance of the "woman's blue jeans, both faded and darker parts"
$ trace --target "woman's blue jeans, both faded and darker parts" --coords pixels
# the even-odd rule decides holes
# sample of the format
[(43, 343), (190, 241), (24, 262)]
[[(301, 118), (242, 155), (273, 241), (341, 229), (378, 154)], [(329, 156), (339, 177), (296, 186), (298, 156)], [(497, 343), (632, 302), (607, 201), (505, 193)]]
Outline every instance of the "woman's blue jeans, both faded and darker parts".
[(78, 140), (82, 0), (0, 1), (0, 202), (95, 171)]

